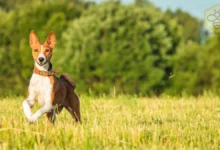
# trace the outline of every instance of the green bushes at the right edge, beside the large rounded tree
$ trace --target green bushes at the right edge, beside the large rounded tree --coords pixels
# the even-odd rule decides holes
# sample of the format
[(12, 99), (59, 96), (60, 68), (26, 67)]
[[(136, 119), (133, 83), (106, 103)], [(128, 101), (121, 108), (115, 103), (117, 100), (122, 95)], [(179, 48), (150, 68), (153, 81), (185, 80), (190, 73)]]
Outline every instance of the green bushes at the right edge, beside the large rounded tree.
[(200, 94), (205, 90), (219, 92), (220, 36), (208, 40), (207, 45), (189, 42), (180, 49), (175, 63), (173, 87), (176, 93), (185, 91)]

